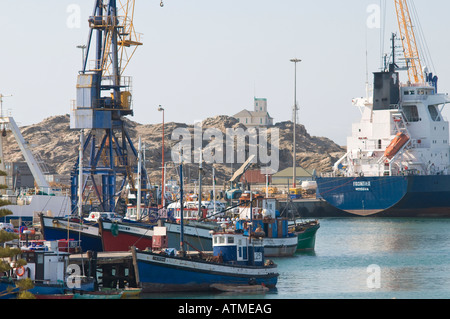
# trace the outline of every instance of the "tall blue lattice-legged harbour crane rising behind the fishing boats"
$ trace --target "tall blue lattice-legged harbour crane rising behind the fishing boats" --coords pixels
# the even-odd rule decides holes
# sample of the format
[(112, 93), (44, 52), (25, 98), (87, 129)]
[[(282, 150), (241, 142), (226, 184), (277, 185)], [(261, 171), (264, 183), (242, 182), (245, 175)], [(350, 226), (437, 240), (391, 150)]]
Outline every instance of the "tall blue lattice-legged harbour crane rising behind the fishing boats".
[[(134, 29), (134, 9), (134, 0), (95, 0), (88, 19), (89, 35), (77, 77), (76, 105), (70, 113), (71, 129), (82, 131), (82, 136), (86, 132), (71, 172), (73, 213), (80, 197), (87, 198), (83, 194), (88, 191), (98, 202), (98, 209), (105, 212), (117, 212), (118, 200), (127, 184), (136, 192), (138, 151), (124, 120), (125, 116), (133, 115), (132, 79), (124, 71), (142, 45), (141, 35)], [(145, 167), (141, 174), (145, 205), (148, 200)]]

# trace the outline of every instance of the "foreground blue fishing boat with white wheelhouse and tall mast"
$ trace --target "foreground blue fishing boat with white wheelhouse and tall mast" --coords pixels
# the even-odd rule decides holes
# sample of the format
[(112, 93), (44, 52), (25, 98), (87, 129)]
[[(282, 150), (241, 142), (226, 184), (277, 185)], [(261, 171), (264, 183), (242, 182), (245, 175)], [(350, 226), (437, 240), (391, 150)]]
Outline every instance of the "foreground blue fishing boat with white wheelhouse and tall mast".
[[(182, 172), (180, 165), (181, 201)], [(185, 250), (182, 212), (180, 226), (179, 251), (164, 246), (159, 251), (132, 248), (136, 281), (143, 292), (211, 290), (213, 284), (276, 286), (276, 265), (265, 261), (261, 238), (223, 229), (212, 233), (212, 255), (201, 251), (192, 254)]]

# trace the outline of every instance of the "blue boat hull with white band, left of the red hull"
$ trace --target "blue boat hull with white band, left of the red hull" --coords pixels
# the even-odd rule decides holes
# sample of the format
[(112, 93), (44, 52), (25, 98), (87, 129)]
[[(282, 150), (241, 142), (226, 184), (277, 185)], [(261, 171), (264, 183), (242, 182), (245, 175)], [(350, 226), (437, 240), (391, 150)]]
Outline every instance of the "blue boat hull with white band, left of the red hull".
[(98, 226), (68, 222), (66, 219), (41, 215), (41, 232), (45, 240), (80, 239), (82, 251), (103, 251)]

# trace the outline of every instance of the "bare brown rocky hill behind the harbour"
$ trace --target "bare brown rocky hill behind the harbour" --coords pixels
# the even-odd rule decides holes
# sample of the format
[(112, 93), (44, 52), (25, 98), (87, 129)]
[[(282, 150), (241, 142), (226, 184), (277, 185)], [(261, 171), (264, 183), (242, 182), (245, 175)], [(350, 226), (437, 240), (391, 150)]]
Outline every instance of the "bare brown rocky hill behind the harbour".
[[(151, 181), (159, 181), (161, 178), (161, 138), (162, 124), (142, 125), (126, 119), (126, 126), (131, 139), (137, 148), (137, 140), (140, 136), (145, 144), (146, 167)], [(279, 129), (279, 170), (292, 166), (292, 128), (293, 123), (281, 122), (274, 126)], [(165, 124), (165, 160), (169, 167), (174, 165), (171, 161), (171, 150), (179, 141), (171, 139), (172, 132), (176, 128), (184, 128), (193, 136), (193, 125), (182, 123)], [(224, 134), (227, 128), (237, 129), (246, 127), (240, 124), (235, 118), (229, 116), (216, 116), (203, 121), (203, 130), (207, 128), (217, 128)], [(53, 116), (44, 121), (21, 127), (22, 135), (32, 147), (33, 153), (38, 159), (46, 164), (48, 170), (54, 174), (69, 175), (78, 156), (79, 131), (70, 129), (69, 115)], [(270, 137), (270, 129), (268, 130)], [(303, 125), (297, 126), (297, 165), (305, 169), (316, 169), (318, 172), (329, 171), (333, 163), (343, 155), (344, 149), (335, 144), (330, 139), (324, 137), (310, 136)], [(270, 141), (270, 138), (269, 138)], [(203, 141), (203, 146), (209, 141)], [(23, 160), (19, 146), (11, 132), (7, 132), (4, 140), (4, 156), (6, 162)], [(224, 148), (225, 149), (225, 148)], [(225, 157), (224, 157), (225, 160)], [(240, 163), (218, 164), (216, 165), (216, 176), (219, 182), (228, 180), (233, 172), (240, 166)], [(198, 176), (198, 164), (187, 164), (189, 176), (193, 179)], [(205, 165), (205, 182), (207, 176), (211, 174), (211, 166)], [(173, 173), (175, 171), (172, 169)], [(168, 170), (170, 178), (170, 169)]]

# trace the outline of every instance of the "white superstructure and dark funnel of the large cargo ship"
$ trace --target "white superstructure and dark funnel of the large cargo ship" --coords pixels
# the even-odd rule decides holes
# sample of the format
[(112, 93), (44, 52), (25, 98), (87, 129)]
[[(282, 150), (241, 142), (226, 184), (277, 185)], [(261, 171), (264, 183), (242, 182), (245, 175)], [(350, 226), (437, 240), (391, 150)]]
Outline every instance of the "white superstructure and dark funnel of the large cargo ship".
[[(436, 92), (436, 78), (402, 84), (393, 70), (375, 73), (374, 97), (354, 99), (362, 118), (347, 138), (347, 154), (334, 166), (344, 176), (448, 174), (449, 124), (442, 109), (450, 102)], [(397, 94), (398, 92), (398, 94)], [(375, 99), (375, 101), (374, 101)], [(403, 134), (403, 142), (394, 145)], [(392, 148), (393, 155), (387, 155)]]

